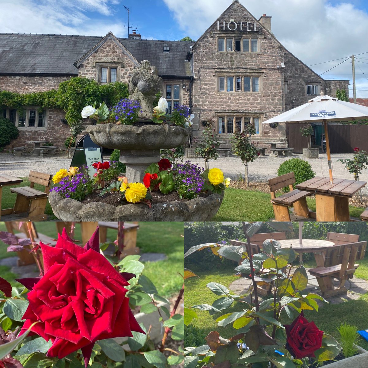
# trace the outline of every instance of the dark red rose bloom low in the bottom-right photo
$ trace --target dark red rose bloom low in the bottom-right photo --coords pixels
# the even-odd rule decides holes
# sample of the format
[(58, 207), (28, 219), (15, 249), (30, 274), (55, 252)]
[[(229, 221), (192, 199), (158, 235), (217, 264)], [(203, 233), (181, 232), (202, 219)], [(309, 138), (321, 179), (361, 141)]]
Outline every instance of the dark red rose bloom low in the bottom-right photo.
[(314, 322), (308, 322), (299, 315), (291, 325), (284, 325), (287, 349), (293, 357), (301, 359), (314, 357), (314, 352), (322, 346), (323, 331)]

